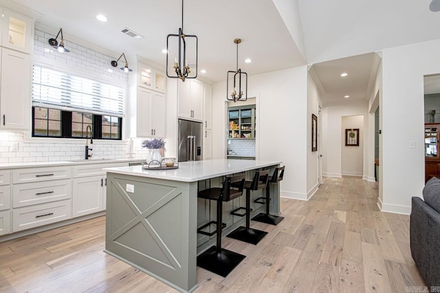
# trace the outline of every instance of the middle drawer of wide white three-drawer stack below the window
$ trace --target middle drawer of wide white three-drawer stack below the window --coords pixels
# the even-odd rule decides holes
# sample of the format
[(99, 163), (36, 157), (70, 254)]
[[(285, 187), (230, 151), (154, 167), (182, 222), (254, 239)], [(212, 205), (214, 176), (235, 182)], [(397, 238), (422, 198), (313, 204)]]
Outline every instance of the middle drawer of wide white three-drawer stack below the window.
[(13, 207), (25, 207), (72, 198), (72, 180), (16, 184), (12, 190)]

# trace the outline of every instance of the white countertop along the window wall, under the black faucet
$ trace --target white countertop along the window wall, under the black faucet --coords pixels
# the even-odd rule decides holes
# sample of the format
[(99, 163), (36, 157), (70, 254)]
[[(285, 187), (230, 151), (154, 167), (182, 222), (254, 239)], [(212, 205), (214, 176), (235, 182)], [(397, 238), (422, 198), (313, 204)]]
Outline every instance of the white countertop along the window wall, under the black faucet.
[(29, 167), (53, 167), (63, 165), (107, 164), (123, 162), (141, 162), (144, 159), (73, 159), (71, 161), (28, 162), (28, 163), (2, 163), (0, 169), (17, 169)]

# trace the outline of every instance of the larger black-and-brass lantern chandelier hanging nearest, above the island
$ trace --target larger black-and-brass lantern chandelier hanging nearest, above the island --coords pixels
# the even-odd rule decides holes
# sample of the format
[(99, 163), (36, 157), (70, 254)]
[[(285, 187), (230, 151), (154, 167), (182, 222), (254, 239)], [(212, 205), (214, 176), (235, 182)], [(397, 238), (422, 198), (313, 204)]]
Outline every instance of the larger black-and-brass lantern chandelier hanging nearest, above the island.
[[(169, 43), (171, 39), (175, 39), (179, 42), (179, 59), (175, 58), (173, 69), (175, 74), (170, 75), (168, 73), (168, 57), (170, 55)], [(195, 38), (195, 72), (192, 72), (188, 65), (188, 59), (186, 54), (186, 40), (185, 38)], [(196, 35), (184, 34), (184, 0), (181, 0), (181, 27), (179, 28), (179, 34), (168, 34), (166, 36), (166, 76), (168, 78), (180, 78), (182, 82), (185, 78), (197, 78), (197, 54), (198, 54), (198, 38)], [(190, 75), (192, 73), (192, 75)]]

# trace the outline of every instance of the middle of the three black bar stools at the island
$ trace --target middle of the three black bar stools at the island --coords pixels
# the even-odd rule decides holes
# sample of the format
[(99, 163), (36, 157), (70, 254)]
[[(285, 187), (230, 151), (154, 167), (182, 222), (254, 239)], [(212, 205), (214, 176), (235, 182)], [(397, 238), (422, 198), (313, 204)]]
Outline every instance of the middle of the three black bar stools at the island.
[[(240, 226), (239, 228), (236, 228), (234, 231), (229, 233), (228, 237), (241, 240), (243, 242), (248, 242), (250, 244), (258, 244), (265, 235), (267, 235), (267, 232), (256, 230), (253, 228), (250, 228), (250, 191), (251, 190), (259, 190), (267, 187), (267, 180), (269, 179), (269, 170), (262, 170), (257, 171), (254, 176), (254, 180), (251, 181), (245, 181), (245, 189), (246, 189), (246, 207), (239, 207), (238, 209), (234, 209), (234, 211), (231, 211), (232, 215), (242, 215), (239, 213), (236, 213), (239, 209), (245, 209), (246, 210), (246, 226)], [(235, 186), (235, 185), (232, 185)]]

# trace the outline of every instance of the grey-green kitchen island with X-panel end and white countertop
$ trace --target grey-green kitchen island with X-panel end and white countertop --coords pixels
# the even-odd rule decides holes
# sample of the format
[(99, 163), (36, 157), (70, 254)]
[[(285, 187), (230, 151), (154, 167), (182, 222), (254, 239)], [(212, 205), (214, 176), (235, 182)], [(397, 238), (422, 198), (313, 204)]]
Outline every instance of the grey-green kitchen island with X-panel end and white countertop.
[[(164, 281), (180, 292), (197, 288), (197, 191), (221, 176), (273, 169), (279, 161), (207, 160), (179, 163), (179, 169), (142, 166), (107, 171), (105, 252)], [(279, 213), (274, 185), (271, 213)], [(238, 199), (237, 199), (238, 200)], [(229, 211), (225, 211), (228, 212)], [(234, 226), (241, 224), (236, 222)], [(231, 227), (233, 228), (233, 227)], [(212, 239), (204, 246), (208, 247)], [(205, 248), (205, 249), (206, 249)]]

